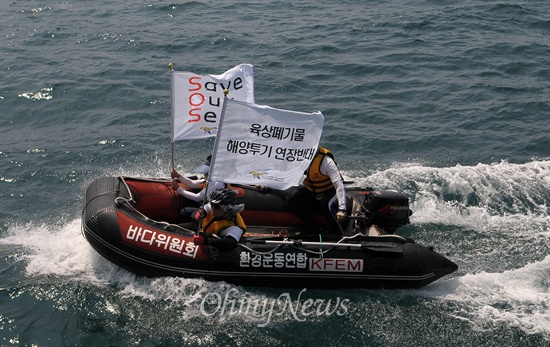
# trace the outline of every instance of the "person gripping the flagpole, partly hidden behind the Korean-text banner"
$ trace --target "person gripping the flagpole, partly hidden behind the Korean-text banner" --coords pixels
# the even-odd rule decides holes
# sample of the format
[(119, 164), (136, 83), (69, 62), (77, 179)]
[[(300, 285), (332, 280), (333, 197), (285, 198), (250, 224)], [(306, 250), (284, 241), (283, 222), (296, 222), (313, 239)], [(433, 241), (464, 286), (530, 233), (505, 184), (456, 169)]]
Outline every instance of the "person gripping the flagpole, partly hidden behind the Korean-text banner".
[[(212, 156), (209, 155), (203, 165), (193, 170), (193, 172), (203, 174), (205, 176), (204, 179), (190, 179), (180, 175), (175, 169), (172, 169), (171, 176), (174, 179), (174, 181), (172, 181), (172, 189), (177, 191), (178, 194), (182, 196), (181, 215), (185, 217), (190, 218), (195, 214), (198, 207), (200, 207), (201, 203), (204, 201), (207, 193), (210, 194), (218, 188), (225, 188), (225, 184), (223, 182), (210, 182), (210, 185), (207, 187), (206, 178), (208, 177), (208, 172), (210, 171), (211, 158)], [(178, 184), (178, 181), (183, 183), (187, 189), (181, 187)], [(199, 192), (192, 191), (198, 189), (200, 189)]]

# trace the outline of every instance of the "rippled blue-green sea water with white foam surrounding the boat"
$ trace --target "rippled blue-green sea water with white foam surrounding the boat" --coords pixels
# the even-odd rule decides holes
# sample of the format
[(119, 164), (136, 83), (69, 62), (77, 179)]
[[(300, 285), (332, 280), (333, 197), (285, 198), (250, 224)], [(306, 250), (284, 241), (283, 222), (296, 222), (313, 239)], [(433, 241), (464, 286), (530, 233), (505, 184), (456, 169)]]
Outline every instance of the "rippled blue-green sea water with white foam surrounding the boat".
[[(550, 345), (546, 1), (0, 2), (0, 345)], [(168, 177), (170, 76), (254, 65), (355, 186), (459, 270), (418, 290), (137, 277), (81, 235), (101, 176)], [(190, 172), (213, 140), (181, 141)]]

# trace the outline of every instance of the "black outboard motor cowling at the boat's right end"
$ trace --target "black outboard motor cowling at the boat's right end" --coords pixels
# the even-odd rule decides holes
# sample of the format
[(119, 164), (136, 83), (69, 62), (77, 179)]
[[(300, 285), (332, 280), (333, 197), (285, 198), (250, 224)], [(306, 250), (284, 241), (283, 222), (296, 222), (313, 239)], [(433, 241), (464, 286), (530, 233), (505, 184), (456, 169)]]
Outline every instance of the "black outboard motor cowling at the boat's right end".
[(409, 198), (395, 191), (371, 191), (363, 207), (369, 224), (377, 225), (388, 233), (410, 223)]

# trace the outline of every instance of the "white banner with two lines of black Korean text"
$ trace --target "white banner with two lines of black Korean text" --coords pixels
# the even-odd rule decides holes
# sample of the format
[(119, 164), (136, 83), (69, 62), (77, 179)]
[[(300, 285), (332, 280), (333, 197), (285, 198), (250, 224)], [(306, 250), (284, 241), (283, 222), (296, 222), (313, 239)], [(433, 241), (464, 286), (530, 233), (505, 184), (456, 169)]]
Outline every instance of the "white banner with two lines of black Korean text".
[(317, 153), (323, 121), (321, 112), (227, 100), (209, 179), (276, 189), (299, 185)]

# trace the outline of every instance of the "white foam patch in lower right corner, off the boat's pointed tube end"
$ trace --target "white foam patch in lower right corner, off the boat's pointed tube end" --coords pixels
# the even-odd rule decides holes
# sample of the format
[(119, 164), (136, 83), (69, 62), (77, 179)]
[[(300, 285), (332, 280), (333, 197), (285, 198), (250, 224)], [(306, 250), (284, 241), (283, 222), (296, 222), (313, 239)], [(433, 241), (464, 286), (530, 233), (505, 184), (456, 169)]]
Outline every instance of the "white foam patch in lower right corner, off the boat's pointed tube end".
[(504, 325), (550, 341), (550, 255), (523, 268), (467, 274), (417, 293), (459, 303), (454, 316), (478, 329)]

